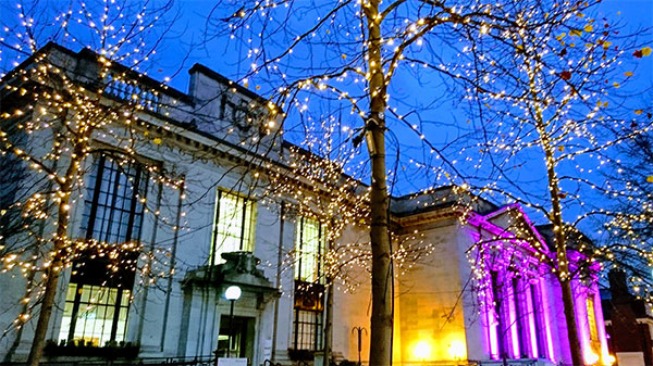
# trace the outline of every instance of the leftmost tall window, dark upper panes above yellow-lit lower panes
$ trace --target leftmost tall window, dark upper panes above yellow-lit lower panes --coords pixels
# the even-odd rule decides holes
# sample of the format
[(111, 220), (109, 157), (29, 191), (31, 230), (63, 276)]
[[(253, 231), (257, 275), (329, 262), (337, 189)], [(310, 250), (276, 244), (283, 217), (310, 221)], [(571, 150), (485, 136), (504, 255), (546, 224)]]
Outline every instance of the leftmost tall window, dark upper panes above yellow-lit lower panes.
[[(138, 166), (101, 155), (90, 175), (85, 197), (82, 231), (87, 240), (120, 244), (138, 240), (143, 224), (140, 194), (147, 191), (147, 174)], [(97, 249), (73, 263), (60, 340), (94, 345), (125, 338), (134, 268), (109, 268)], [(120, 252), (120, 263), (135, 263), (138, 253)]]

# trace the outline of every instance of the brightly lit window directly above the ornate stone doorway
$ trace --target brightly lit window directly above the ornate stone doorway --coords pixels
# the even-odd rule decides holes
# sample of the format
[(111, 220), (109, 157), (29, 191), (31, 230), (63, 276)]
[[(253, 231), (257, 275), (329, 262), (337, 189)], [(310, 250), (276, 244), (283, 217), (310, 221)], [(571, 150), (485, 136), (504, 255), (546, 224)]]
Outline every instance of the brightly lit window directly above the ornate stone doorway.
[(256, 202), (234, 193), (218, 190), (211, 264), (220, 264), (222, 253), (254, 251)]

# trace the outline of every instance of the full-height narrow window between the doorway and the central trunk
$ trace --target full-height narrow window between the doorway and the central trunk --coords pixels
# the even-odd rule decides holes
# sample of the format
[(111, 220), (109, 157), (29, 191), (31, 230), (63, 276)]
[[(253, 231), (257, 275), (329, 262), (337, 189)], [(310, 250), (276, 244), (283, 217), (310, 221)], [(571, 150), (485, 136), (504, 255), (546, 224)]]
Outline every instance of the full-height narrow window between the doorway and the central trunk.
[(295, 241), (295, 350), (322, 348), (325, 229), (319, 222), (300, 217)]

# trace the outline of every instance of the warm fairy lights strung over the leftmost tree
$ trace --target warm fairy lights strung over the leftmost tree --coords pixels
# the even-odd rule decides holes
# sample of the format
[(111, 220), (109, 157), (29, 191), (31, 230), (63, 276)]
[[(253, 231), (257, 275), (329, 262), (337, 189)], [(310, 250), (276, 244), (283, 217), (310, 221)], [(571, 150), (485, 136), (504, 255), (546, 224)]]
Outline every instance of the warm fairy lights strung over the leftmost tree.
[[(120, 5), (107, 3), (107, 7), (100, 8), (98, 21), (94, 22), (98, 9), (88, 9), (83, 2), (76, 5), (79, 7), (76, 11), (70, 8), (56, 16), (53, 24), (61, 27), (62, 38), (59, 41), (84, 43), (88, 38), (78, 39), (74, 34), (88, 29), (97, 37), (95, 39), (103, 46), (102, 56), (94, 56), (88, 62), (88, 65), (97, 66), (96, 76), (77, 74), (71, 62), (78, 60), (66, 59), (67, 54), (57, 48), (37, 53), (37, 47), (42, 43), (34, 35), (45, 24), (40, 23), (42, 18), (35, 20), (40, 16), (40, 12), (34, 13), (35, 9), (28, 13), (23, 4), (17, 4), (19, 22), (3, 24), (1, 41), (8, 47), (1, 49), (0, 61), (7, 64), (11, 55), (11, 65), (19, 66), (25, 55), (32, 59), (28, 65), (2, 74), (1, 92), (7, 98), (3, 99), (0, 116), (0, 152), (3, 157), (22, 160), (23, 166), (32, 169), (28, 176), (34, 181), (46, 181), (42, 187), (32, 187), (36, 192), (23, 190), (16, 182), (16, 197), (25, 197), (24, 201), (2, 207), (2, 216), (19, 211), (21, 216), (34, 219), (30, 223), (33, 227), (24, 235), (19, 232), (16, 238), (2, 238), (0, 242), (0, 273), (14, 276), (14, 268), (20, 268), (19, 274), (27, 279), (26, 295), (22, 300), (25, 306), (14, 320), (15, 328), (21, 328), (30, 318), (34, 305), (47, 291), (48, 277), (58, 277), (74, 264), (77, 265), (73, 273), (96, 258), (102, 260), (99, 265), (106, 266), (108, 274), (102, 279), (104, 285), (121, 272), (138, 272), (140, 285), (170, 275), (170, 248), (146, 248), (138, 241), (115, 243), (70, 236), (72, 230), (69, 227), (76, 223), (72, 216), (73, 207), (84, 206), (91, 156), (108, 154), (123, 172), (138, 164), (147, 172), (144, 176), (148, 177), (150, 185), (159, 189), (180, 191), (185, 184), (183, 178), (161, 171), (158, 164), (148, 164), (148, 161), (139, 159), (138, 153), (144, 144), (160, 143), (157, 137), (151, 139), (147, 131), (143, 134), (144, 124), (139, 117), (151, 108), (150, 101), (143, 97), (156, 96), (167, 87), (159, 85), (145, 90), (138, 81), (145, 74), (138, 73), (137, 67), (155, 53), (153, 49), (145, 47), (144, 41), (163, 9), (143, 8), (140, 12), (128, 14), (134, 16), (131, 23), (124, 20), (127, 14)], [(124, 23), (119, 25), (122, 21)], [(134, 31), (135, 25), (138, 31)], [(11, 39), (15, 43), (10, 45)], [(125, 52), (125, 49), (128, 50)], [(113, 67), (113, 63), (121, 62), (130, 64), (128, 72)], [(110, 81), (122, 81), (127, 86), (131, 93), (125, 98), (126, 102), (116, 103), (111, 97), (104, 97), (104, 91), (111, 93)], [(174, 104), (173, 101), (171, 108)], [(38, 139), (49, 144), (34, 144)], [(96, 141), (110, 143), (112, 148)], [(15, 168), (20, 167), (16, 165)], [(127, 176), (127, 185), (135, 185), (133, 177)], [(165, 217), (158, 209), (151, 207), (147, 193), (138, 189), (130, 187), (144, 211), (177, 230), (174, 217)]]

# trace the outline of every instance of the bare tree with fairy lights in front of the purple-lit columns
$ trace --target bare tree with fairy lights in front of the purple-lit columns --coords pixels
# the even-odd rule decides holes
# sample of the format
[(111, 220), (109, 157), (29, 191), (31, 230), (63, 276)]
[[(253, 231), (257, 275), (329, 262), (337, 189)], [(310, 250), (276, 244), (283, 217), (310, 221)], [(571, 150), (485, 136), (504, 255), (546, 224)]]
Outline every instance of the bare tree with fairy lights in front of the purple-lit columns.
[[(620, 143), (652, 127), (651, 121), (638, 125), (641, 106), (626, 102), (637, 79), (633, 64), (650, 49), (618, 23), (596, 17), (591, 4), (571, 9), (559, 22), (540, 23), (549, 10), (533, 7), (518, 21), (523, 29), (510, 33), (460, 31), (479, 55), (458, 70), (475, 80), (468, 140), (478, 141), (460, 154), (475, 156), (467, 181), (477, 192), (519, 202), (552, 224), (555, 256), (542, 253), (541, 261), (560, 283), (572, 361), (582, 365), (571, 281), (611, 255), (606, 247), (572, 238), (617, 215), (611, 200), (632, 199), (600, 172), (618, 163)], [(515, 49), (494, 48), (485, 38)], [(582, 255), (571, 260), (569, 251)]]

